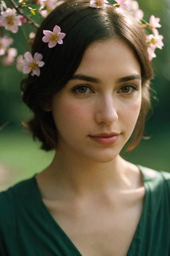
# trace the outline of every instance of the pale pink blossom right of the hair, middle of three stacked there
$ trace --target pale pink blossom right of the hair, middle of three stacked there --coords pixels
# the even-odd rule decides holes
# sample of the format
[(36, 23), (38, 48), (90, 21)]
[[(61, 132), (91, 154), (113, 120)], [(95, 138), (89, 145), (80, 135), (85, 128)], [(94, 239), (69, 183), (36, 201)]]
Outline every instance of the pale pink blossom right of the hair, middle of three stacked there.
[(159, 35), (157, 29), (155, 30), (154, 35), (151, 34), (147, 36), (147, 43), (149, 47), (152, 47), (155, 49), (159, 48), (162, 50), (162, 47), (164, 46), (164, 43), (162, 42), (162, 40), (163, 40), (163, 36)]

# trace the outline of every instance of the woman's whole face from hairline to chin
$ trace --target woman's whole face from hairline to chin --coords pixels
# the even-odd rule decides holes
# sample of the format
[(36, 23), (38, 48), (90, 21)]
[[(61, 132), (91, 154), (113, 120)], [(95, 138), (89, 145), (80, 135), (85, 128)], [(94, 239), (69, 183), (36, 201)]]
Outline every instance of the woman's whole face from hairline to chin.
[(140, 107), (141, 70), (131, 47), (118, 37), (94, 42), (52, 98), (57, 150), (100, 163), (113, 160), (132, 134)]

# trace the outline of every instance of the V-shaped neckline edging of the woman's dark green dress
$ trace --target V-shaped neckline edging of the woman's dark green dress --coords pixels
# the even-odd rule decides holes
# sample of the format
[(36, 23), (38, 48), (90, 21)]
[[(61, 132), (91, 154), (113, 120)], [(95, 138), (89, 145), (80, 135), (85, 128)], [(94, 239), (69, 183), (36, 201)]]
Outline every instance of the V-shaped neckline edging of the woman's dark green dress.
[[(133, 244), (135, 243), (136, 238), (141, 235), (141, 232), (142, 232), (142, 230), (141, 230), (142, 229), (142, 222), (143, 222), (143, 218), (144, 218), (145, 207), (146, 207), (147, 200), (148, 200), (147, 186), (146, 186), (146, 183), (145, 183), (145, 178), (144, 178), (144, 173), (142, 171), (142, 166), (141, 165), (136, 165), (136, 166), (138, 167), (138, 169), (139, 169), (139, 171), (141, 173), (141, 176), (142, 176), (142, 183), (143, 183), (143, 186), (145, 188), (145, 195), (144, 195), (144, 199), (143, 199), (143, 208), (142, 208), (142, 213), (141, 213), (141, 216), (140, 216), (140, 220), (138, 222), (137, 228), (136, 228), (135, 233), (133, 235), (133, 239), (132, 239), (132, 241), (130, 243), (130, 246), (129, 246), (129, 249), (128, 249), (128, 252), (127, 252), (126, 256), (131, 256), (131, 250), (132, 250)], [(41, 192), (40, 192), (40, 189), (39, 189), (39, 186), (38, 186), (38, 182), (37, 182), (37, 179), (36, 179), (36, 175), (37, 174), (38, 173), (36, 173), (32, 177), (32, 179), (34, 181), (36, 193), (37, 193), (37, 196), (38, 196), (38, 198), (40, 200), (40, 203), (41, 203), (43, 209), (45, 210), (46, 214), (50, 218), (52, 225), (55, 226), (62, 233), (62, 235), (65, 236), (65, 239), (67, 240), (67, 242), (73, 247), (74, 251), (76, 251), (77, 256), (83, 256), (80, 253), (80, 251), (77, 249), (77, 247), (74, 245), (74, 243), (71, 241), (69, 236), (65, 233), (65, 231), (60, 227), (60, 225), (57, 223), (57, 221), (53, 218), (53, 216), (49, 212), (48, 208), (44, 204), (44, 202), (42, 200), (42, 195), (41, 195)], [(139, 243), (139, 239), (137, 239), (137, 241)], [(138, 255), (135, 255), (135, 256), (138, 256)]]

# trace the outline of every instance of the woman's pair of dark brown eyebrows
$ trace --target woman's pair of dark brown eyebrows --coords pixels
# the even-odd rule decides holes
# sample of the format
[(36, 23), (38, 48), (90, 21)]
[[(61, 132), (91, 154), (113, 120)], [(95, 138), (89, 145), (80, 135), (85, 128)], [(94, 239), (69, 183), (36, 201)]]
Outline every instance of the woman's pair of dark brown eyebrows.
[[(100, 84), (101, 83), (101, 80), (99, 78), (95, 78), (95, 77), (91, 77), (91, 76), (86, 76), (86, 75), (83, 75), (83, 74), (73, 75), (70, 80), (74, 80), (74, 79), (76, 79), (76, 80), (84, 80), (84, 81), (88, 81), (88, 82), (92, 82), (92, 83), (96, 83), (96, 84)], [(130, 76), (125, 76), (125, 77), (119, 78), (116, 81), (116, 83), (127, 82), (127, 81), (134, 80), (134, 79), (142, 80), (140, 75), (133, 74), (133, 75), (130, 75)]]

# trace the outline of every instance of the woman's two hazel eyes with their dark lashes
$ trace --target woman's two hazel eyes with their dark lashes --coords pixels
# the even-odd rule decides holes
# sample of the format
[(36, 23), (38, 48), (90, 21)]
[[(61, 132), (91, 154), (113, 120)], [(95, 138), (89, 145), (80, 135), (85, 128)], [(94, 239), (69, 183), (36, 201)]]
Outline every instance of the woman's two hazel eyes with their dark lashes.
[[(126, 84), (122, 86), (117, 91), (117, 93), (121, 93), (123, 95), (128, 96), (135, 93), (138, 90), (139, 90), (138, 86), (134, 84)], [(94, 93), (94, 90), (89, 85), (78, 85), (72, 88), (72, 92), (80, 96), (85, 96), (85, 95), (88, 95), (89, 93)]]

